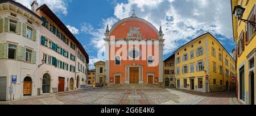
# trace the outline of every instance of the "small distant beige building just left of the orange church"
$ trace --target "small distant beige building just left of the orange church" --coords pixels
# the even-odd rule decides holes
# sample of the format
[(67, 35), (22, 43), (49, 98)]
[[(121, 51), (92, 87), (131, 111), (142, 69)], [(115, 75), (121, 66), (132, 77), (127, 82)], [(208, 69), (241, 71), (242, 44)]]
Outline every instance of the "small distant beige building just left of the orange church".
[(106, 65), (104, 61), (98, 61), (94, 63), (95, 67), (95, 82), (104, 84), (106, 83)]

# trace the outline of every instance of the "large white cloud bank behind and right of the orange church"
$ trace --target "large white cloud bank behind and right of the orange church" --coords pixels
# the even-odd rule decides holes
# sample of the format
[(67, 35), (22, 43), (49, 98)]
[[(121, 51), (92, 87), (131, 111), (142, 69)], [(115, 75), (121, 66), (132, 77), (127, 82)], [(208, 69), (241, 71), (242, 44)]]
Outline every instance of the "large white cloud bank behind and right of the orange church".
[(221, 35), (222, 42), (234, 45), (229, 0), (128, 0), (126, 3), (117, 3), (114, 18), (104, 19), (101, 28), (94, 28), (90, 24), (85, 26), (87, 31), (84, 32), (93, 35), (92, 45), (104, 49), (106, 24), (113, 25), (117, 20), (131, 16), (133, 9), (137, 10), (135, 14), (139, 18), (148, 20), (156, 28), (162, 26), (166, 39), (164, 54), (184, 44), (181, 42), (188, 42), (205, 32)]

